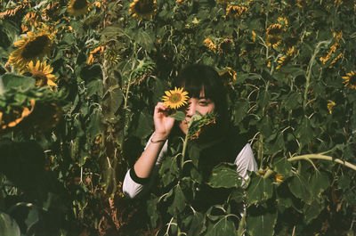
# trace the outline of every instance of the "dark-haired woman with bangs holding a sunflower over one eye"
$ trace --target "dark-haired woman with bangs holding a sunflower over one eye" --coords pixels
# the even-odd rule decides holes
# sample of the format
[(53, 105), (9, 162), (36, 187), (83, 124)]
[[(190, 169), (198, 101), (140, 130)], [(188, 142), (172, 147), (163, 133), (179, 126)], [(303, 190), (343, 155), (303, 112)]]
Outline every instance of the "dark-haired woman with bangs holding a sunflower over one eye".
[[(229, 126), (227, 93), (218, 73), (205, 65), (190, 65), (182, 70), (174, 86), (184, 87), (190, 96), (184, 108), (185, 120), (175, 121), (169, 116), (171, 110), (166, 104), (158, 102), (153, 115), (155, 132), (150, 136), (141, 157), (125, 175), (123, 191), (129, 198), (138, 198), (150, 191), (162, 160), (166, 157), (168, 141), (174, 136), (187, 134), (190, 118), (197, 112), (202, 115), (210, 112), (218, 114), (214, 128), (199, 137), (199, 142), (211, 143), (206, 145), (209, 148), (203, 151), (205, 154), (199, 161), (199, 167), (204, 173), (208, 175), (214, 166), (223, 161), (235, 163), (244, 181), (248, 178), (247, 171), (257, 170), (250, 145)], [(214, 199), (214, 195), (210, 196)], [(214, 204), (214, 200), (206, 204)]]

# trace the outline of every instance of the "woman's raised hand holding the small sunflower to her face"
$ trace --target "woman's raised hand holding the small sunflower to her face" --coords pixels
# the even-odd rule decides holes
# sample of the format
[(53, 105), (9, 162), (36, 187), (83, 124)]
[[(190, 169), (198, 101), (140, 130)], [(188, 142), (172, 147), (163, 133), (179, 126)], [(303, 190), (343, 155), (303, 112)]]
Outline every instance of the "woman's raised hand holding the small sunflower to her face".
[(174, 118), (169, 117), (169, 108), (163, 102), (158, 102), (153, 114), (155, 124), (154, 140), (164, 140), (171, 133), (174, 126)]

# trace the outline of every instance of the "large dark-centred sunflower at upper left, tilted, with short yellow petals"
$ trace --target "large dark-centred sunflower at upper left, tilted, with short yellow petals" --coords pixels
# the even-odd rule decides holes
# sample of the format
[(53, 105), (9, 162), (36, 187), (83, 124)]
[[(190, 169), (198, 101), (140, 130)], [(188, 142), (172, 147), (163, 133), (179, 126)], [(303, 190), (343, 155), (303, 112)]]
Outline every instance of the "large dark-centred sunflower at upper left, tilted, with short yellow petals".
[(9, 56), (9, 62), (16, 69), (24, 69), (29, 61), (40, 60), (48, 54), (53, 42), (53, 34), (41, 30), (38, 33), (28, 32), (13, 43), (17, 47)]

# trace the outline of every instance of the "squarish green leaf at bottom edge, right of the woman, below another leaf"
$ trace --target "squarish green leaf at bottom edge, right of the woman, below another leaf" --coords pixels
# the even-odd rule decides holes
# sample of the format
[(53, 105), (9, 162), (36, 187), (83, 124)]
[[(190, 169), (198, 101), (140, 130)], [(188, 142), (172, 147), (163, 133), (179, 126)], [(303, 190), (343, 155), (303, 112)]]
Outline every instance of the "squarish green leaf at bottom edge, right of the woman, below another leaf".
[(252, 206), (247, 209), (247, 232), (251, 236), (273, 235), (277, 222), (276, 208)]

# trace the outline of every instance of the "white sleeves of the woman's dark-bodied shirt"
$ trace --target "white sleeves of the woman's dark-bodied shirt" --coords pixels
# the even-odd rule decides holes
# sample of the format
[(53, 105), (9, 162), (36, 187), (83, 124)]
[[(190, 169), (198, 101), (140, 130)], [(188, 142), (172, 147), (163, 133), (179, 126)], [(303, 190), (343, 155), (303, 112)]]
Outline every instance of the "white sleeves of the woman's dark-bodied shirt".
[[(152, 136), (150, 137), (151, 140)], [(145, 149), (150, 144), (147, 142)], [(125, 175), (123, 183), (123, 192), (126, 197), (134, 199), (140, 196), (143, 192), (150, 189), (151, 185), (154, 183), (154, 177), (158, 175), (158, 169), (162, 164), (163, 159), (166, 157), (166, 152), (168, 150), (168, 141), (162, 147), (162, 150), (158, 154), (158, 159), (156, 161), (155, 167), (153, 167), (150, 179), (147, 183), (138, 183), (137, 176), (134, 174), (134, 168), (129, 169)], [(237, 166), (236, 171), (243, 177), (244, 184), (248, 179), (247, 171), (256, 171), (257, 163), (254, 158), (254, 153), (252, 152), (251, 146), (247, 143), (244, 148), (239, 151), (238, 156), (236, 157), (234, 164)], [(153, 176), (152, 176), (153, 175)], [(135, 181), (136, 180), (136, 181)]]

